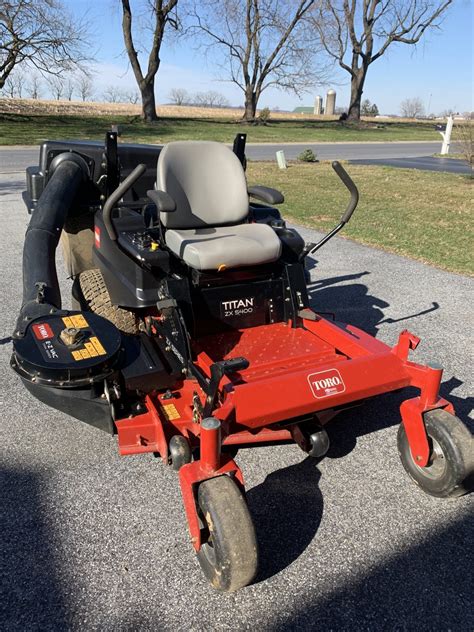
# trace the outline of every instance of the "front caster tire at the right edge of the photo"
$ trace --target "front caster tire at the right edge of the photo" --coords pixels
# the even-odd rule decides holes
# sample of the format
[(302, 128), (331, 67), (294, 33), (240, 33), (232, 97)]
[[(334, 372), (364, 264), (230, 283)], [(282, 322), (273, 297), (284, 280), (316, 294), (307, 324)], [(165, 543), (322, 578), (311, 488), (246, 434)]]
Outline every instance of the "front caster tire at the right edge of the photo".
[(403, 424), (398, 428), (398, 454), (408, 475), (424, 492), (438, 498), (471, 491), (474, 446), (468, 428), (442, 409), (425, 413), (424, 421), (431, 450), (427, 467), (415, 463)]

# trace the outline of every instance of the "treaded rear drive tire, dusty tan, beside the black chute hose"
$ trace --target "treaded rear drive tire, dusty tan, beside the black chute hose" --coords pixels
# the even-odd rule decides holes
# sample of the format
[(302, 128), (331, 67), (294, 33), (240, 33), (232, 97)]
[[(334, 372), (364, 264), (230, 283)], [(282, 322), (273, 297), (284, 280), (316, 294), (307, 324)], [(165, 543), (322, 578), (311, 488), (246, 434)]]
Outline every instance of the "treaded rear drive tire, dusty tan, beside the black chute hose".
[(84, 310), (90, 310), (110, 320), (117, 329), (126, 334), (139, 333), (139, 320), (134, 312), (112, 305), (99, 269), (86, 270), (76, 278), (73, 293)]

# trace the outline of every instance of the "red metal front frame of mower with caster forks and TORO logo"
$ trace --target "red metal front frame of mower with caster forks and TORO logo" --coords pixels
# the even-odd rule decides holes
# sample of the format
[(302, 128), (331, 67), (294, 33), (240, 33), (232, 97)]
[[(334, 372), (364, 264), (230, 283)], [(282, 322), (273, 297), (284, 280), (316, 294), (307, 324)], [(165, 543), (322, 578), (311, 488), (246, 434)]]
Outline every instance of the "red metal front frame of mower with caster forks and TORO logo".
[[(209, 420), (200, 419), (196, 407), (190, 404), (196, 401), (201, 390), (199, 384), (195, 379), (185, 378), (172, 393), (147, 395), (143, 414), (115, 422), (122, 455), (159, 453), (163, 462), (169, 463), (169, 439), (176, 434), (199, 447), (200, 458), (183, 465), (179, 471), (191, 541), (196, 550), (201, 546), (196, 505), (199, 483), (230, 475), (242, 488), (244, 486), (238, 465), (222, 448), (277, 442), (302, 445), (298, 420), (313, 416), (324, 425), (354, 402), (411, 386), (418, 388), (420, 394), (405, 400), (400, 406), (400, 414), (413, 459), (424, 467), (428, 463), (430, 447), (423, 415), (436, 408), (454, 414), (452, 404), (439, 397), (442, 368), (424, 366), (408, 359), (409, 352), (420, 342), (414, 334), (402, 331), (397, 344), (390, 347), (356, 327), (332, 323), (311, 310), (305, 310), (305, 316), (307, 318), (300, 323), (302, 327), (340, 354), (338, 362), (333, 357), (329, 364), (320, 363), (310, 373), (324, 374), (336, 368), (342, 376), (344, 390), (317, 399), (309, 388), (311, 384), (308, 385), (311, 375), (307, 368), (254, 383), (233, 383), (224, 376), (211, 418), (219, 423), (207, 424)], [(212, 363), (205, 352), (198, 354), (196, 365), (208, 377)], [(271, 397), (269, 393), (272, 393)], [(201, 391), (199, 401), (202, 395)]]

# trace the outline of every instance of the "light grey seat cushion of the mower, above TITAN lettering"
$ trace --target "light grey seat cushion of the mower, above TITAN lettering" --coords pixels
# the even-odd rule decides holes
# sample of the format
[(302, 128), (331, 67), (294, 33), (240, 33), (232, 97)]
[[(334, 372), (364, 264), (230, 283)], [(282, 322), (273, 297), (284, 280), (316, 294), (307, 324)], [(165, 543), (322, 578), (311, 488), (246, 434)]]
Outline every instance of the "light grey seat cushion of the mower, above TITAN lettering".
[(267, 224), (169, 229), (165, 239), (175, 255), (197, 270), (270, 263), (281, 254), (280, 239)]

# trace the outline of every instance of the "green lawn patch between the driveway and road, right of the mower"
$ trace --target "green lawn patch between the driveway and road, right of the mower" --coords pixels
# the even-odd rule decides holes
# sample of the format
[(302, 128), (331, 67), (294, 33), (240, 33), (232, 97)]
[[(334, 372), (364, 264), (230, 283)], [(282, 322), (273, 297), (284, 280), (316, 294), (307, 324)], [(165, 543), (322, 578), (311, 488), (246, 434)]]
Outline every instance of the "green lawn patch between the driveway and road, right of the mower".
[[(474, 274), (473, 179), (391, 167), (348, 164), (346, 169), (360, 190), (360, 203), (341, 235)], [(281, 171), (273, 163), (251, 162), (248, 177), (284, 193), (286, 219), (317, 230), (335, 226), (348, 202), (347, 189), (329, 163), (290, 164)]]

